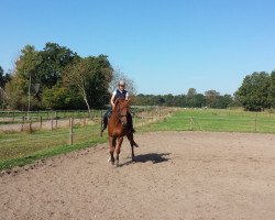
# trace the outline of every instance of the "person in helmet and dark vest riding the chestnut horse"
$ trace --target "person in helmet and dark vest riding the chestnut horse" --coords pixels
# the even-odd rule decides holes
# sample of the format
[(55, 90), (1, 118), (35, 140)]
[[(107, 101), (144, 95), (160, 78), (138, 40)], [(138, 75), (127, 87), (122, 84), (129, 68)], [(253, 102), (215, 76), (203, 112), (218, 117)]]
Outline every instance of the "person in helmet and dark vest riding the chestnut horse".
[[(114, 108), (114, 101), (118, 98), (123, 98), (127, 100), (129, 99), (129, 94), (125, 90), (125, 85), (127, 85), (125, 81), (121, 79), (118, 85), (119, 88), (112, 92), (112, 97), (110, 99), (111, 107), (107, 110), (102, 119), (103, 120), (103, 128), (101, 130), (102, 132), (107, 128), (108, 119), (110, 118), (112, 109)], [(128, 120), (129, 120), (129, 127), (131, 128), (132, 132), (135, 132), (135, 130), (133, 129), (133, 120), (132, 120), (132, 116), (130, 114), (130, 112), (128, 112)]]

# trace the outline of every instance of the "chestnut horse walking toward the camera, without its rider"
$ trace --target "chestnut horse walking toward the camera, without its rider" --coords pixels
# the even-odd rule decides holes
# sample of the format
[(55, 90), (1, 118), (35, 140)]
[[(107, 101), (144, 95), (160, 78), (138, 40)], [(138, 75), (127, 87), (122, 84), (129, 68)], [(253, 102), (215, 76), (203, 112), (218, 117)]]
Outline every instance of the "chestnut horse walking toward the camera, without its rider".
[[(132, 162), (134, 162), (134, 146), (139, 146), (134, 142), (133, 132), (128, 123), (130, 103), (125, 99), (117, 99), (112, 109), (111, 117), (108, 121), (108, 134), (109, 134), (109, 152), (110, 161), (119, 166), (119, 155), (123, 136), (127, 135), (132, 148)], [(113, 153), (116, 152), (116, 160)]]

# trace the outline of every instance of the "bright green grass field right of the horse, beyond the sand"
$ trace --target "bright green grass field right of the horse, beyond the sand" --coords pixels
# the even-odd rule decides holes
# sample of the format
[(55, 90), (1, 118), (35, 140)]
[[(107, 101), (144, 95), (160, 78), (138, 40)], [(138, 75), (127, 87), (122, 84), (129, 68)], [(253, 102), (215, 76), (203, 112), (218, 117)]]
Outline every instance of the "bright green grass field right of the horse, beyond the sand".
[(142, 131), (212, 131), (275, 133), (275, 114), (232, 110), (178, 110)]

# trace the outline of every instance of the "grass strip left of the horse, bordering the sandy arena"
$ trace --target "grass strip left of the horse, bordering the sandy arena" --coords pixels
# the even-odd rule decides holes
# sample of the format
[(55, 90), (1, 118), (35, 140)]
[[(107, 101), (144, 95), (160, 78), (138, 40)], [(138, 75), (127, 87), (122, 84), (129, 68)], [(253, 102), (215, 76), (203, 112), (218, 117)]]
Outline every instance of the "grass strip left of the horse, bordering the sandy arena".
[(0, 170), (105, 142), (107, 142), (107, 135), (105, 134), (103, 138), (99, 135), (99, 124), (76, 127), (73, 145), (68, 144), (68, 128), (53, 132), (2, 133), (0, 134)]

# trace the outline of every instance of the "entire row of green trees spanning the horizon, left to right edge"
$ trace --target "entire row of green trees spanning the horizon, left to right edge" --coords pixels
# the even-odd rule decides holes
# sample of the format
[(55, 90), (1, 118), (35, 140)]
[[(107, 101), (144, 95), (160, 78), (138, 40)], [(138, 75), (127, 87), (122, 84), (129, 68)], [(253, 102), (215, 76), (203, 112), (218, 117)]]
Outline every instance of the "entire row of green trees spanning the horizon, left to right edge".
[(81, 57), (56, 43), (41, 51), (32, 45), (22, 48), (14, 69), (4, 73), (0, 66), (0, 108), (15, 110), (98, 109), (109, 103), (110, 92), (120, 78), (127, 79), (132, 103), (226, 109), (238, 106), (249, 111), (275, 108), (275, 70), (245, 76), (231, 95), (216, 90), (186, 95), (135, 95), (134, 81), (113, 69), (107, 55)]

